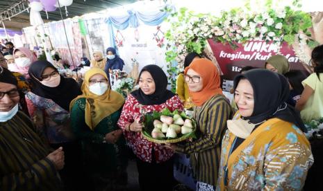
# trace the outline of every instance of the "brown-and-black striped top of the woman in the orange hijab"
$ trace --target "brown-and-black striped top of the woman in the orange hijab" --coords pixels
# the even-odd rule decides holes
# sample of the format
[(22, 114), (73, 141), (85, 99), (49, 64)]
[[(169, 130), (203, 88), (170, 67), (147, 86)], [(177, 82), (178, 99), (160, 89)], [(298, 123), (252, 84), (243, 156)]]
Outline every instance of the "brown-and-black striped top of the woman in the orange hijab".
[(190, 154), (197, 181), (216, 185), (222, 137), (226, 120), (231, 119), (232, 115), (229, 101), (222, 95), (213, 96), (201, 107), (195, 108), (194, 119), (201, 136), (192, 143), (186, 143), (182, 151)]

